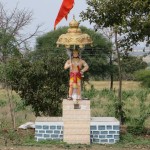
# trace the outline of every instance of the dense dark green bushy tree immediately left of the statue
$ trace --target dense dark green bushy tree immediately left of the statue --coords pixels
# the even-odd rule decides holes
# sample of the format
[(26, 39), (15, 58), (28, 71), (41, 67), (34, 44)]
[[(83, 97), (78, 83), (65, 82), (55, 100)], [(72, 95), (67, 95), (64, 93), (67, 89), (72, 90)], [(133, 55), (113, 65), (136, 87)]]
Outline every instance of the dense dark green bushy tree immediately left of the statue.
[(61, 99), (67, 95), (68, 84), (63, 64), (61, 56), (47, 56), (33, 62), (11, 59), (7, 63), (9, 84), (26, 106), (32, 106), (36, 116), (61, 114)]

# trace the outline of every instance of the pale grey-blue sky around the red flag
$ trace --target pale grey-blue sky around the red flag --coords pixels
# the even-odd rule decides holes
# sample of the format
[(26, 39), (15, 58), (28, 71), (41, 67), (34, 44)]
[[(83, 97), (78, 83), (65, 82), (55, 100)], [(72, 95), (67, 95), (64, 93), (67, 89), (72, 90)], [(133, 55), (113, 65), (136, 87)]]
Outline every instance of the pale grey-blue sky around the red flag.
[[(62, 4), (62, 0), (1, 0), (5, 9), (12, 10), (18, 4), (18, 9), (27, 9), (33, 12), (33, 21), (24, 30), (26, 33), (33, 33), (37, 25), (41, 25), (41, 33), (46, 33), (54, 29), (54, 22), (59, 12), (59, 8)], [(73, 15), (77, 21), (80, 20), (79, 14), (82, 10), (87, 8), (86, 0), (75, 0), (75, 5), (68, 15), (68, 20), (63, 19), (56, 28), (60, 26), (68, 26), (72, 20)], [(81, 22), (80, 25), (84, 25), (88, 28), (93, 28), (88, 21)], [(31, 45), (35, 44), (35, 39), (32, 39)]]

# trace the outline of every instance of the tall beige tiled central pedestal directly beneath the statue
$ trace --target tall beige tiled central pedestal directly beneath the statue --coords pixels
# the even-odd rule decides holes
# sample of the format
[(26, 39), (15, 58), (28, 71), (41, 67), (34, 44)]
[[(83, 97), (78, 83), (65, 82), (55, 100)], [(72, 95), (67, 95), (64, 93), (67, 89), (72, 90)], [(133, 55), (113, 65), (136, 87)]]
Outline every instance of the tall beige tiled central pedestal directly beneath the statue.
[(90, 144), (90, 101), (63, 100), (63, 140), (69, 144)]

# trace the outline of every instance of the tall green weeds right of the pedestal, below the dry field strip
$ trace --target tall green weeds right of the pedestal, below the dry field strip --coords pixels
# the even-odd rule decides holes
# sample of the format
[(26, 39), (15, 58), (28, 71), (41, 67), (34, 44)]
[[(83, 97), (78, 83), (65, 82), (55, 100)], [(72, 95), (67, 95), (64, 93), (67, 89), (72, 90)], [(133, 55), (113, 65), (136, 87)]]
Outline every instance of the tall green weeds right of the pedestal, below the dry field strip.
[[(91, 108), (92, 116), (115, 116), (118, 115), (118, 98), (114, 91), (103, 89), (98, 91), (94, 89), (86, 91), (85, 96), (89, 96), (92, 93)], [(95, 94), (94, 94), (95, 93)], [(132, 134), (139, 134), (144, 132), (146, 120), (150, 114), (149, 103), (150, 91), (144, 90), (128, 90), (122, 93), (122, 108), (123, 108), (123, 121), (129, 126)], [(139, 130), (135, 130), (135, 128)]]

